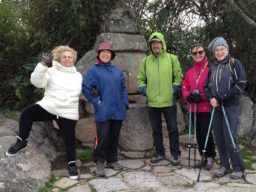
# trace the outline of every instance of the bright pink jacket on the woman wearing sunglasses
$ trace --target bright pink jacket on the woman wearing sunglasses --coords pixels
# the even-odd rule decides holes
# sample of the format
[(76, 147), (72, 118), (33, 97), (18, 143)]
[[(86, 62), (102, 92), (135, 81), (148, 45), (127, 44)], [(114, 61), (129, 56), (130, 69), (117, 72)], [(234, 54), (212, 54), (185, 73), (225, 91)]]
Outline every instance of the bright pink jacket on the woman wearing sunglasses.
[[(188, 69), (182, 83), (182, 93), (183, 93), (184, 100), (186, 100), (186, 97), (190, 93), (193, 94), (194, 89), (199, 89), (200, 94), (201, 93), (203, 94), (203, 101), (201, 101), (200, 103), (197, 103), (197, 112), (210, 112), (209, 102), (206, 99), (206, 95), (203, 90), (203, 85), (206, 82), (206, 78), (209, 72), (209, 64), (207, 64), (206, 68), (201, 74), (201, 77), (197, 83), (197, 87), (196, 87), (196, 79), (194, 77), (194, 72), (195, 72), (195, 75), (198, 78), (198, 75), (200, 75), (200, 73), (202, 72), (207, 62), (208, 62), (207, 57), (205, 57), (205, 59), (201, 63), (193, 62), (194, 66)], [(189, 112), (189, 104), (190, 103), (188, 103), (188, 112)], [(191, 112), (194, 112), (194, 103), (191, 103)]]

